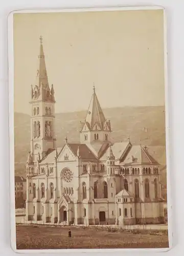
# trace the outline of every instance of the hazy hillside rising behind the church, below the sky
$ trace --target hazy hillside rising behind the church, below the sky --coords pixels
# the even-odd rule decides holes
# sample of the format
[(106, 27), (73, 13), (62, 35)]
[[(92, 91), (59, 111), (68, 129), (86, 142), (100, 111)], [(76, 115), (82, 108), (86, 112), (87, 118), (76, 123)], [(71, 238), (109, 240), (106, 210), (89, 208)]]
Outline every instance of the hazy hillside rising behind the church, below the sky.
[[(110, 119), (112, 142), (124, 141), (130, 136), (132, 144), (154, 146), (151, 148), (155, 159), (166, 165), (166, 135), (164, 106), (139, 106), (104, 109)], [(85, 119), (86, 111), (56, 114), (57, 146), (68, 142), (79, 142), (80, 121)], [(14, 113), (15, 134), (15, 173), (25, 176), (25, 164), (30, 150), (30, 116)], [(148, 148), (149, 150), (149, 148)]]

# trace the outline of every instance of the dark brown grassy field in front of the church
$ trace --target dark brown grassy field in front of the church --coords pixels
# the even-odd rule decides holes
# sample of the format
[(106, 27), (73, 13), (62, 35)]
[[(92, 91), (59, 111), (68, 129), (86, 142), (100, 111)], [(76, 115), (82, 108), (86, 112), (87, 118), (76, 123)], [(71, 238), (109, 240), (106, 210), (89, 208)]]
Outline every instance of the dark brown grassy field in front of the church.
[(167, 248), (167, 230), (117, 230), (99, 227), (17, 225), (17, 249)]

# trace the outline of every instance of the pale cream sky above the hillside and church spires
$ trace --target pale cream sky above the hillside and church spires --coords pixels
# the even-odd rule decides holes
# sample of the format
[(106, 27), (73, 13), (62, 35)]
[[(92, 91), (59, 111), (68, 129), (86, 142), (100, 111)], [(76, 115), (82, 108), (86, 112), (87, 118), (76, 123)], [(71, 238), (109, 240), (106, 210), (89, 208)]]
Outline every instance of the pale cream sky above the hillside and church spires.
[(14, 14), (14, 106), (30, 114), (39, 37), (56, 113), (164, 105), (163, 10)]

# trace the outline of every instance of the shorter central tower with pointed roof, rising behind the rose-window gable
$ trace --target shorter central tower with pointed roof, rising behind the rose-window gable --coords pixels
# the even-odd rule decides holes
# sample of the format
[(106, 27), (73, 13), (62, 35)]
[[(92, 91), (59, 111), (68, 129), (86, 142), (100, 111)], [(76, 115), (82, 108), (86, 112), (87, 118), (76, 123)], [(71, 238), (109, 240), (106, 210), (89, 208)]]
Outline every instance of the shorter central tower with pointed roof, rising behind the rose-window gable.
[(89, 103), (85, 121), (81, 122), (80, 133), (81, 143), (103, 144), (109, 143), (110, 141), (110, 120), (107, 120), (104, 116), (97, 98), (95, 86), (93, 87), (93, 95)]

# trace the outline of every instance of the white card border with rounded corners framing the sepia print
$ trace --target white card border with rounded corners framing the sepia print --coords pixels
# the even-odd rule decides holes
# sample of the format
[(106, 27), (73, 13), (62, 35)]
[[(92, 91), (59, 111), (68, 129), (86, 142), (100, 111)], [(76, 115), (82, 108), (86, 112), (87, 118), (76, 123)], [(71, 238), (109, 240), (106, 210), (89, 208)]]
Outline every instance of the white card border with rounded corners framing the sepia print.
[[(165, 69), (165, 118), (166, 118), (166, 163), (167, 163), (167, 207), (168, 207), (168, 239), (169, 248), (148, 249), (16, 249), (15, 198), (14, 198), (14, 44), (13, 16), (16, 13), (51, 13), (51, 12), (94, 12), (94, 11), (130, 11), (130, 10), (159, 10), (164, 12), (164, 69)], [(11, 247), (18, 253), (52, 253), (52, 252), (134, 252), (134, 251), (168, 251), (173, 246), (172, 229), (172, 198), (171, 198), (171, 169), (170, 169), (170, 120), (169, 120), (169, 87), (167, 63), (167, 22), (166, 10), (162, 6), (130, 6), (105, 8), (70, 8), (70, 9), (31, 9), (12, 11), (8, 15), (8, 90), (9, 90), (9, 161), (10, 161), (10, 228)]]

